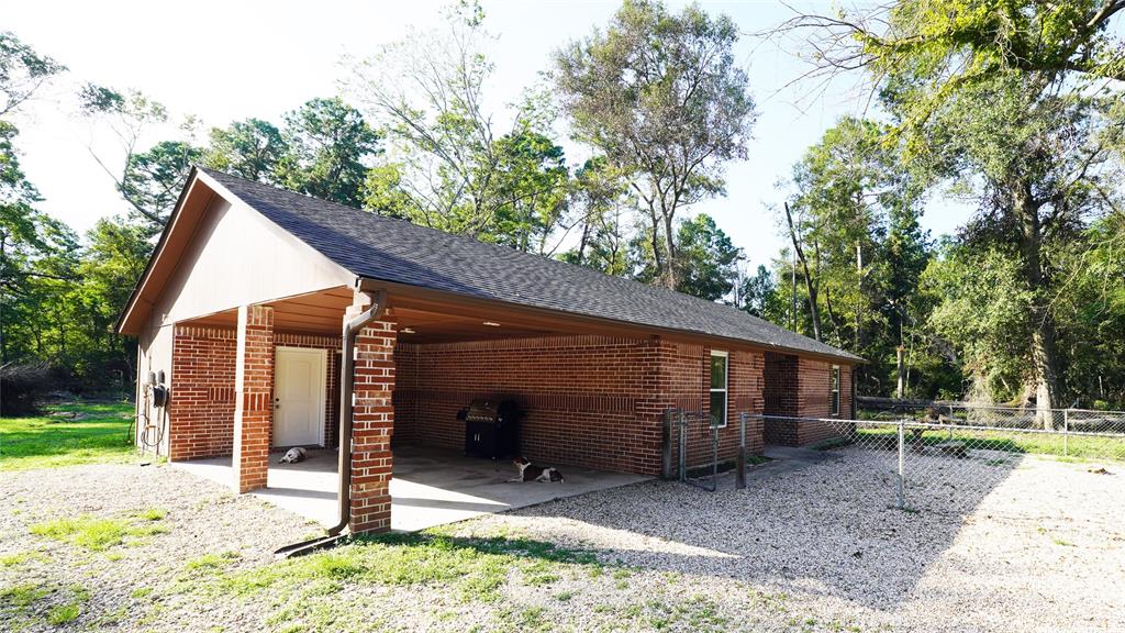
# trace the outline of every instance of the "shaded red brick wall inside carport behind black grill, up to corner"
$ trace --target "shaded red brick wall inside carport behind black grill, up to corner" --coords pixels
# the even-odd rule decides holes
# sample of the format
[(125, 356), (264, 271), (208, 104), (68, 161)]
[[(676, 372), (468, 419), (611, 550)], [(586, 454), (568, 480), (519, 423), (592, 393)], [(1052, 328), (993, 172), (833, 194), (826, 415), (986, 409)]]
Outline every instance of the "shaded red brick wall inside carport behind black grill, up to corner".
[(475, 398), (513, 399), (528, 412), (521, 445), (530, 458), (650, 470), (659, 438), (646, 437), (637, 416), (647, 345), (606, 337), (402, 342), (396, 440), (460, 451), (459, 409)]

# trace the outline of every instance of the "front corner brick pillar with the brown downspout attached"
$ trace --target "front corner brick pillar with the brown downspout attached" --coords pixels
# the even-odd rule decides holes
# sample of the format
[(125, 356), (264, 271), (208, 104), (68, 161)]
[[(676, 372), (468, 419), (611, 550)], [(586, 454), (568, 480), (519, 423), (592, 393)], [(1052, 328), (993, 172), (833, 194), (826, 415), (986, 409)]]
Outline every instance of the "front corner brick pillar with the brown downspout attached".
[[(350, 307), (345, 319), (363, 310)], [(390, 529), (390, 436), (395, 409), (395, 323), (384, 315), (356, 337), (352, 396), (352, 533)], [(343, 447), (341, 447), (343, 449)]]

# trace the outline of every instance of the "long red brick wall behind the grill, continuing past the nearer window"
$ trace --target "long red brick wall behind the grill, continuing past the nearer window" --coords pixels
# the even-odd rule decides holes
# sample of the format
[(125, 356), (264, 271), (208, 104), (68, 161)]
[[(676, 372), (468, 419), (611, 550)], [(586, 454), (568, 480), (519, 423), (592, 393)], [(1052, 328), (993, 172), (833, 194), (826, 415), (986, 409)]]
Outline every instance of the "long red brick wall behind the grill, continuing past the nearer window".
[[(760, 411), (760, 355), (731, 355), (730, 412)], [(659, 474), (663, 412), (705, 409), (710, 350), (598, 336), (414, 345), (399, 342), (395, 440), (460, 451), (457, 411), (474, 398), (511, 398), (528, 412), (522, 452), (551, 464)], [(755, 427), (755, 425), (752, 425)], [(760, 451), (760, 430), (748, 431)], [(737, 424), (722, 435), (734, 456)], [(696, 449), (693, 439), (692, 451)], [(699, 445), (710, 451), (710, 444)]]

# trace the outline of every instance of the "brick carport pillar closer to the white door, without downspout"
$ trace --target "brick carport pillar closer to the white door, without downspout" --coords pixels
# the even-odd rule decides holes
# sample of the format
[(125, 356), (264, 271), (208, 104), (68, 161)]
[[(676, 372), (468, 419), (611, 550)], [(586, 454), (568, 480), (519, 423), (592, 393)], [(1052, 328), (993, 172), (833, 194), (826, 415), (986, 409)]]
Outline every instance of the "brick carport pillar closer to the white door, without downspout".
[(273, 309), (238, 307), (234, 375), (234, 488), (266, 488), (273, 430)]

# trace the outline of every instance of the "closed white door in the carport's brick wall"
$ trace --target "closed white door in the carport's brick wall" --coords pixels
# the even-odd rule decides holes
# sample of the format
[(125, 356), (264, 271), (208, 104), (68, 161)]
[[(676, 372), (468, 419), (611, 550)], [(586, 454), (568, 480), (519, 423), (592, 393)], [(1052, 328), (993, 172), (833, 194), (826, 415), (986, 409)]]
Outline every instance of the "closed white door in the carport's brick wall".
[(273, 380), (273, 446), (324, 444), (325, 350), (279, 347)]

